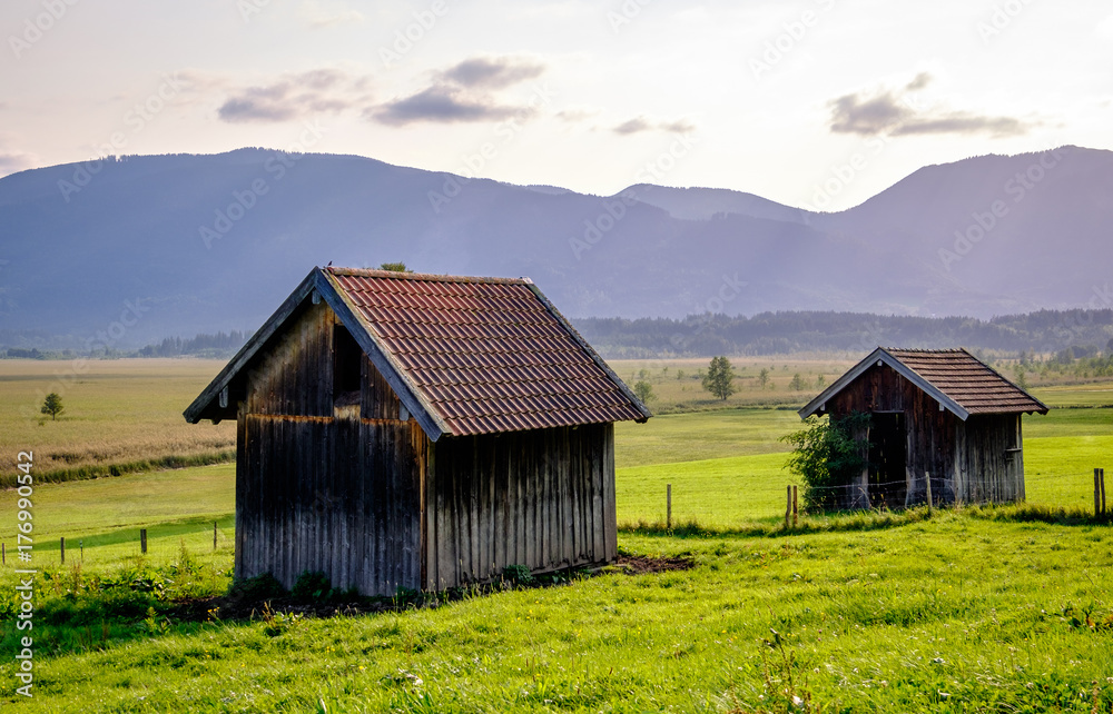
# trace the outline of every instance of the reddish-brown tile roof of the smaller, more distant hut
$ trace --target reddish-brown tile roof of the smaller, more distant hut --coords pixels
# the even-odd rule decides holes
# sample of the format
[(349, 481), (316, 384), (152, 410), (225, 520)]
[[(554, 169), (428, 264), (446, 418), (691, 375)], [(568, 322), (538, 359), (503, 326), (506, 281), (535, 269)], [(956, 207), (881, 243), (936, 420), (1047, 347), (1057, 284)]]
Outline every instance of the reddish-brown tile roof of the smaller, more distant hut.
[(1047, 407), (965, 349), (886, 349), (971, 414), (1046, 413)]

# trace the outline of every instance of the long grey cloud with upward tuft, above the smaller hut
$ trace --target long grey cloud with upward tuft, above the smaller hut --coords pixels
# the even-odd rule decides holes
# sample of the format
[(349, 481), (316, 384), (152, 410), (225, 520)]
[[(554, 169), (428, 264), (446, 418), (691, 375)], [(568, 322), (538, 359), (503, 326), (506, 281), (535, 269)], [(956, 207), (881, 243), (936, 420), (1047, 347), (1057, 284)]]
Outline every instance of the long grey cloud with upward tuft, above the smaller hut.
[(927, 72), (916, 76), (903, 90), (874, 95), (846, 95), (829, 102), (830, 130), (859, 136), (915, 136), (938, 133), (986, 133), (992, 137), (1026, 133), (1032, 125), (1013, 117), (991, 117), (968, 111), (925, 110), (913, 92), (933, 81)]

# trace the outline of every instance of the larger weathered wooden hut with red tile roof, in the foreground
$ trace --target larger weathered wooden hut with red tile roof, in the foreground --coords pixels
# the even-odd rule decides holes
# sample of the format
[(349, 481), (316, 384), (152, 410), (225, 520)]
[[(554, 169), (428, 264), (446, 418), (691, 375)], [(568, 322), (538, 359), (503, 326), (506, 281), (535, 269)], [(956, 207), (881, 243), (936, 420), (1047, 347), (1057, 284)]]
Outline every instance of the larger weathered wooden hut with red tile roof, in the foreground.
[(237, 577), (383, 595), (612, 561), (650, 413), (528, 278), (316, 268), (185, 416), (237, 420)]

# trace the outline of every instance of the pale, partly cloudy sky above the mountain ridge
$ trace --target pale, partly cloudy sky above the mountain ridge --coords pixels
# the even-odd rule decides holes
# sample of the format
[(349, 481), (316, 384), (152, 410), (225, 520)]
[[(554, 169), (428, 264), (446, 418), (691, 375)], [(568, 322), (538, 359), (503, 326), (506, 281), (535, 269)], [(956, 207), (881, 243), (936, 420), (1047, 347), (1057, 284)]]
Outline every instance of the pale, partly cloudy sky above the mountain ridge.
[(3, 0), (0, 34), (0, 176), (259, 146), (830, 210), (1113, 148), (1107, 2)]

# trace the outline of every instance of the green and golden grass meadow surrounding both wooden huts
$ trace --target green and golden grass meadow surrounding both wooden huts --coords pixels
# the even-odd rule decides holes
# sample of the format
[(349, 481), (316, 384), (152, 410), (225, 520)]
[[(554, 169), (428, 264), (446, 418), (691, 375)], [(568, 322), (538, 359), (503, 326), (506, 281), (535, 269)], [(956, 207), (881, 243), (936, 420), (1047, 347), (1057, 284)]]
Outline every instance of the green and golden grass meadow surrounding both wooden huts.
[[(745, 363), (747, 373), (767, 361)], [(617, 426), (619, 545), (691, 569), (418, 598), (356, 616), (187, 617), (180, 603), (230, 585), (233, 464), (38, 484), (35, 697), (16, 694), (6, 654), (0, 702), (82, 713), (1113, 713), (1113, 532), (1084, 516), (1092, 469), (1113, 455), (1113, 409), (1094, 408), (1113, 403), (1113, 385), (1035, 390), (1060, 408), (1025, 417), (1027, 506), (804, 517), (786, 530), (791, 479), (779, 437), (799, 428), (791, 407), (811, 394), (745, 380), (723, 405), (676, 379), (699, 367), (681, 363), (615, 365), (631, 381), (647, 369), (650, 406), (664, 413)], [(808, 365), (828, 383), (847, 366), (766, 367), (787, 385)], [(42, 374), (0, 367), (7, 426), (19, 415), (9, 397), (26, 401)], [(215, 447), (189, 442), (211, 427), (180, 417), (217, 368), (93, 363), (63, 395), (58, 423), (6, 432), (0, 470), (11, 470), (24, 437), (38, 439), (28, 443), (37, 472), (82, 445), (142, 459), (158, 442), (136, 436), (148, 422), (174, 444), (159, 454), (230, 447), (234, 433)], [(672, 533), (660, 527), (668, 484)], [(16, 498), (0, 493), (0, 649), (10, 655), (24, 634), (13, 626)], [(139, 528), (149, 533), (145, 557)]]

